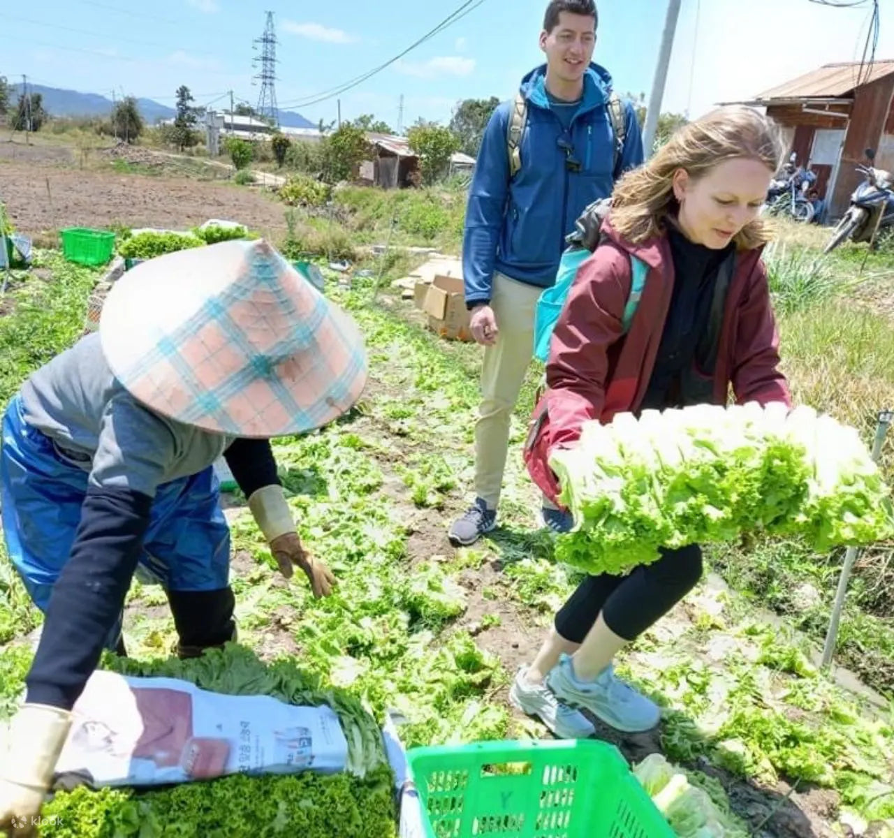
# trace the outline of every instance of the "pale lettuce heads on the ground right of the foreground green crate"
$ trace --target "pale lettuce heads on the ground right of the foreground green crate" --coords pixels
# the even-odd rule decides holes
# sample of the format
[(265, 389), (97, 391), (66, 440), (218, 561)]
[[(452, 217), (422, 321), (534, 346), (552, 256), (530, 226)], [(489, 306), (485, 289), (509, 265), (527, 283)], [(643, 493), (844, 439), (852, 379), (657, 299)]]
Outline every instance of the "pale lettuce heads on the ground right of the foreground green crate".
[(698, 785), (690, 782), (696, 775), (661, 754), (650, 754), (633, 773), (679, 838), (748, 838), (746, 825), (730, 812), (720, 784), (711, 786), (704, 777)]

